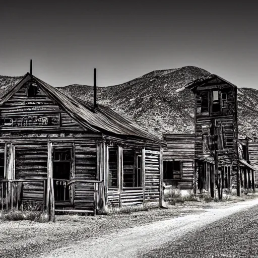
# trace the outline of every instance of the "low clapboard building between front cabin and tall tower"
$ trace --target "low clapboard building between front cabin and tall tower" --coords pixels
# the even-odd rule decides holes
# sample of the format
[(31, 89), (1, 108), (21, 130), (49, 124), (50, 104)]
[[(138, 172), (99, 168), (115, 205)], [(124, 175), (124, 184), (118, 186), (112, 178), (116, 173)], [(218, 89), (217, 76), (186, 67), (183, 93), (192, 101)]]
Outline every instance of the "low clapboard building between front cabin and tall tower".
[(165, 134), (163, 180), (166, 188), (193, 190), (195, 185), (195, 135)]

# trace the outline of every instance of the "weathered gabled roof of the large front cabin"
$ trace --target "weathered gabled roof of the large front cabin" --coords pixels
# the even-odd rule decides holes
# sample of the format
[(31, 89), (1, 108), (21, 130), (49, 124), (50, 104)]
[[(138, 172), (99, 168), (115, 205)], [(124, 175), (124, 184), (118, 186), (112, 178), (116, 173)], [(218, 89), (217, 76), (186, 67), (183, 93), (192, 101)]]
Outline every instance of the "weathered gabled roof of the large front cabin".
[(67, 95), (55, 87), (43, 82), (33, 75), (27, 73), (22, 80), (11, 87), (9, 91), (0, 99), (0, 105), (5, 103), (16, 91), (18, 91), (27, 81), (35, 81), (49, 97), (54, 99), (64, 111), (77, 120), (82, 126), (90, 128), (94, 132), (101, 132), (106, 135), (132, 136), (156, 143), (164, 142), (147, 132), (130, 120), (122, 117), (107, 106), (94, 105), (76, 96)]

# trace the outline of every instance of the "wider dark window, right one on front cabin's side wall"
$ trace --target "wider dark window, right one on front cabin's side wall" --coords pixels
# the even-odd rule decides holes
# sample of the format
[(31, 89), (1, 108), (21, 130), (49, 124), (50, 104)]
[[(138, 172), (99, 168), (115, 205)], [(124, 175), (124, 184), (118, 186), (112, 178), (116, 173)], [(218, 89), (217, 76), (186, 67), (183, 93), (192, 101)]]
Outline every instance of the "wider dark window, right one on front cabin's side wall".
[(132, 149), (123, 150), (123, 187), (142, 186), (142, 156)]

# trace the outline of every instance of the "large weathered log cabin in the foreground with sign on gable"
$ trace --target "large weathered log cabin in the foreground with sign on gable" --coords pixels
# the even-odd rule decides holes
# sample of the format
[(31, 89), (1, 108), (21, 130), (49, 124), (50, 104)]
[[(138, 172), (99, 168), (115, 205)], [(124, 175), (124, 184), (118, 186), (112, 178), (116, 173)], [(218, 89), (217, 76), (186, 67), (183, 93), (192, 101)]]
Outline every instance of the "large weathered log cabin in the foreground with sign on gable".
[(37, 202), (51, 217), (161, 202), (164, 143), (106, 106), (27, 73), (0, 99), (0, 123), (2, 209)]

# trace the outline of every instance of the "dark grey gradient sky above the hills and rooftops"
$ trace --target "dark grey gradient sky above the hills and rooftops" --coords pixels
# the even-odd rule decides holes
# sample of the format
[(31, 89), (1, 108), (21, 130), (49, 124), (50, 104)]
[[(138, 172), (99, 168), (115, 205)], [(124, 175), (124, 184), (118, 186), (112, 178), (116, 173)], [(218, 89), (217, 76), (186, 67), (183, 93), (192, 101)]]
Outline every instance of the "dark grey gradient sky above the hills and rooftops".
[(53, 86), (120, 84), (197, 66), (238, 87), (258, 84), (255, 1), (3, 1), (0, 75)]

